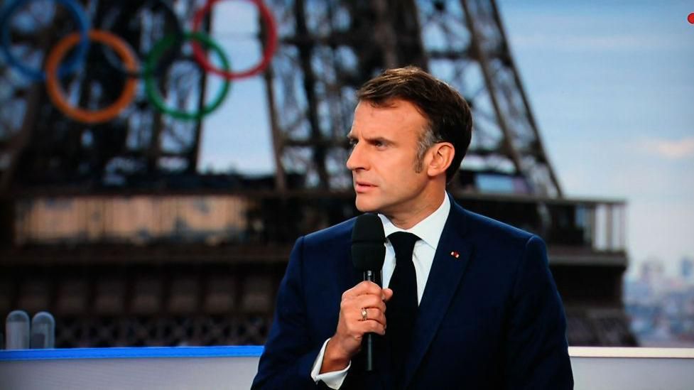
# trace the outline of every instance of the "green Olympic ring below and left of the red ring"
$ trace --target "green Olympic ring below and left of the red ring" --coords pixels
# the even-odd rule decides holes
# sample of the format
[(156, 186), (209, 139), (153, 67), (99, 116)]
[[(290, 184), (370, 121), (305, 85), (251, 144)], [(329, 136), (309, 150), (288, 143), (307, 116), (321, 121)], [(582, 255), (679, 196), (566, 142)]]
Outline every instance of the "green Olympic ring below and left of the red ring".
[[(152, 104), (154, 104), (154, 107), (158, 109), (160, 112), (163, 112), (164, 114), (168, 114), (171, 117), (174, 117), (176, 119), (187, 119), (187, 120), (193, 120), (193, 119), (202, 119), (205, 117), (207, 114), (210, 114), (210, 112), (215, 111), (219, 107), (220, 104), (224, 101), (224, 98), (227, 97), (227, 93), (229, 93), (229, 80), (224, 80), (222, 83), (222, 88), (219, 89), (219, 92), (217, 92), (217, 95), (215, 96), (214, 99), (212, 99), (212, 102), (210, 104), (207, 104), (205, 107), (202, 107), (200, 111), (197, 112), (185, 112), (185, 111), (180, 111), (178, 109), (173, 109), (170, 107), (166, 106), (166, 102), (164, 101), (163, 97), (161, 96), (161, 92), (158, 90), (156, 86), (156, 79), (154, 77), (153, 72), (151, 72), (151, 69), (156, 69), (156, 63), (158, 62), (159, 58), (161, 58), (161, 55), (163, 55), (164, 50), (168, 49), (175, 43), (177, 39), (180, 39), (180, 36), (176, 36), (175, 34), (168, 34), (164, 38), (161, 38), (156, 45), (150, 50), (150, 52), (147, 55), (147, 60), (145, 62), (145, 69), (146, 71), (144, 72), (144, 79), (145, 79), (145, 92), (147, 93), (147, 97)], [(219, 58), (220, 61), (222, 61), (222, 67), (224, 70), (229, 70), (231, 66), (229, 65), (229, 60), (227, 59), (227, 56), (224, 54), (224, 50), (215, 43), (215, 41), (212, 40), (209, 36), (203, 34), (203, 33), (191, 33), (191, 32), (185, 32), (183, 33), (183, 39), (184, 40), (197, 40), (198, 42), (202, 43), (205, 45), (207, 48), (211, 48), (212, 51), (217, 54), (217, 57)]]

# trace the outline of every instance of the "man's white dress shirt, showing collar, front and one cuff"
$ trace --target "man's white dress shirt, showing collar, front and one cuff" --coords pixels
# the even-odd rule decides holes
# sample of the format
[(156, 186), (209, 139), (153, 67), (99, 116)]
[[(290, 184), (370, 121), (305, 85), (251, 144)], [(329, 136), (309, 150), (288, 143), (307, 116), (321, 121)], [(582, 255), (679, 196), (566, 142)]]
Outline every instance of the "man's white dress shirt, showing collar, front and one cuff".
[[(441, 238), (441, 233), (443, 233), (443, 227), (445, 226), (446, 220), (448, 220), (448, 212), (450, 211), (450, 200), (448, 195), (443, 197), (443, 203), (436, 209), (435, 212), (431, 213), (428, 217), (421, 220), (418, 224), (414, 225), (410, 229), (401, 229), (396, 227), (385, 215), (379, 214), (381, 217), (381, 222), (383, 222), (383, 230), (386, 237), (394, 232), (408, 232), (416, 234), (420, 239), (415, 243), (414, 249), (412, 251), (412, 261), (414, 263), (415, 273), (417, 275), (417, 302), (421, 303), (422, 296), (424, 295), (424, 288), (426, 286), (426, 281), (429, 278), (429, 271), (431, 271), (431, 264), (434, 262), (434, 255), (436, 254), (436, 247), (438, 247), (438, 240)], [(386, 239), (386, 257), (383, 263), (383, 269), (381, 270), (381, 278), (383, 280), (383, 286), (388, 287), (393, 276), (393, 271), (395, 269), (395, 250), (390, 240)], [(325, 354), (325, 346), (330, 339), (325, 340), (320, 352), (318, 352), (318, 357), (316, 357), (313, 363), (313, 369), (311, 370), (311, 378), (318, 383), (318, 381), (323, 381), (330, 389), (340, 389), (342, 382), (345, 381), (347, 377), (347, 372), (349, 367), (352, 367), (352, 362), (347, 364), (345, 369), (335, 372), (326, 372), (325, 374), (320, 373), (320, 367), (323, 361), (323, 355)]]

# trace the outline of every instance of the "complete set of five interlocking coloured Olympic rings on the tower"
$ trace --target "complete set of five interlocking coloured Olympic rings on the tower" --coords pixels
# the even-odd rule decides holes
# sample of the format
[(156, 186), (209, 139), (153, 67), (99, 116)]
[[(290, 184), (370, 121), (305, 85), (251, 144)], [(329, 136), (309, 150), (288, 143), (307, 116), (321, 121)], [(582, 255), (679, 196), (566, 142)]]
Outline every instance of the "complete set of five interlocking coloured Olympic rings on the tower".
[[(4, 57), (6, 63), (8, 63), (10, 67), (15, 68), (29, 80), (45, 81), (48, 95), (53, 104), (55, 104), (55, 107), (65, 113), (67, 117), (86, 123), (108, 121), (116, 117), (123, 109), (125, 109), (125, 107), (132, 102), (136, 94), (135, 77), (143, 77), (145, 81), (146, 95), (151, 101), (151, 104), (153, 104), (153, 106), (159, 111), (169, 114), (177, 119), (201, 119), (222, 104), (222, 101), (225, 97), (227, 97), (229, 92), (230, 80), (242, 77), (250, 77), (263, 72), (266, 67), (269, 66), (278, 45), (277, 26), (271, 11), (267, 6), (265, 6), (262, 0), (249, 0), (259, 9), (261, 18), (266, 26), (264, 51), (261, 60), (254, 67), (239, 72), (232, 72), (229, 65), (229, 60), (227, 59), (224, 50), (222, 50), (222, 48), (215, 43), (212, 38), (208, 37), (204, 33), (195, 31), (202, 26), (202, 19), (205, 18), (207, 13), (210, 13), (212, 6), (217, 4), (219, 0), (207, 0), (205, 6), (196, 11), (193, 20), (194, 31), (190, 33), (183, 32), (182, 23), (178, 20), (178, 17), (169, 5), (168, 0), (144, 0), (143, 4), (136, 4), (136, 6), (150, 6), (152, 9), (161, 8), (165, 14), (166, 20), (175, 21), (175, 23), (173, 23), (174, 32), (168, 34), (163, 39), (158, 41), (150, 52), (147, 53), (146, 60), (144, 61), (143, 65), (139, 67), (138, 56), (136, 53), (134, 53), (131, 46), (122, 38), (119, 38), (119, 36), (102, 29), (90, 30), (90, 22), (88, 21), (85, 11), (82, 9), (82, 6), (80, 6), (78, 1), (53, 0), (54, 3), (61, 4), (67, 9), (67, 11), (69, 11), (70, 16), (74, 18), (77, 23), (78, 31), (61, 39), (46, 54), (44, 72), (43, 70), (32, 69), (31, 67), (21, 63), (10, 50), (11, 18), (13, 18), (14, 14), (18, 12), (22, 6), (31, 3), (31, 1), (35, 0), (9, 0), (8, 5), (3, 9), (0, 9), (0, 57)], [(133, 2), (135, 1), (136, 0), (133, 0)], [(136, 6), (131, 7), (131, 9), (135, 9), (136, 11), (138, 9)], [(127, 13), (116, 13), (115, 22), (112, 24), (121, 26), (121, 24), (127, 22), (127, 19), (132, 12), (134, 11)], [(107, 24), (109, 24), (108, 18)], [(111, 46), (116, 55), (121, 58), (124, 66), (117, 63), (118, 61), (114, 59), (114, 55), (111, 50), (104, 50), (105, 57), (115, 70), (129, 76), (125, 82), (124, 89), (120, 97), (116, 99), (116, 102), (104, 109), (87, 110), (80, 107), (73, 107), (70, 102), (67, 102), (65, 91), (63, 91), (58, 80), (60, 77), (67, 75), (69, 72), (75, 71), (77, 67), (82, 64), (82, 61), (87, 56), (87, 51), (90, 47), (90, 40), (95, 40), (104, 45)], [(165, 99), (163, 99), (161, 92), (158, 90), (157, 82), (155, 80), (156, 73), (163, 72), (170, 66), (171, 63), (173, 63), (176, 58), (179, 58), (180, 46), (183, 44), (183, 40), (193, 40), (193, 52), (195, 54), (195, 62), (197, 65), (202, 67), (202, 69), (207, 72), (221, 75), (224, 78), (224, 83), (219, 89), (219, 92), (217, 92), (215, 95), (215, 98), (212, 99), (212, 102), (207, 104), (207, 106), (202, 107), (202, 109), (200, 109), (198, 112), (183, 112), (166, 107), (166, 102), (164, 101)], [(200, 45), (201, 43), (202, 45)], [(74, 51), (74, 54), (70, 54), (69, 58), (63, 61), (65, 55), (67, 55), (67, 53), (75, 46), (77, 46), (77, 48), (72, 50)], [(221, 69), (214, 67), (214, 65), (210, 63), (210, 60), (207, 58), (207, 53), (202, 46), (210, 48), (215, 52), (217, 57), (219, 57)]]

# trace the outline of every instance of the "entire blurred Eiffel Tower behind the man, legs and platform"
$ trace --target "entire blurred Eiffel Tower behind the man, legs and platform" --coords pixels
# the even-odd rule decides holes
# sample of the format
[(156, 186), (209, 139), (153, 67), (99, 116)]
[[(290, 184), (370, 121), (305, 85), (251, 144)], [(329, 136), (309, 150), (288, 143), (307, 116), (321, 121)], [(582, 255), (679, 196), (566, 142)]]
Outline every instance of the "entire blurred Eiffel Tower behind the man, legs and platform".
[[(171, 5), (184, 21), (202, 6)], [(23, 109), (0, 109), (0, 267), (11, 276), (0, 282), (9, 297), (0, 314), (24, 306), (51, 310), (63, 329), (56, 340), (65, 347), (263, 342), (293, 239), (357, 213), (345, 168), (355, 90), (385, 68), (417, 65), (459, 90), (473, 110), (472, 144), (450, 193), (470, 210), (546, 240), (570, 345), (635, 344), (621, 300), (624, 202), (564, 196), (493, 0), (268, 0), (266, 6), (278, 35), (271, 65), (258, 76), (274, 151), (269, 178), (198, 174), (205, 121), (171, 119), (142, 95), (116, 119), (85, 125), (66, 119), (36, 85), (7, 83), (13, 87), (1, 98)], [(96, 26), (111, 23), (139, 43), (136, 49), (151, 48), (171, 28), (166, 9), (148, 11), (151, 23), (112, 21), (141, 20), (138, 10), (99, 3), (90, 17)], [(205, 26), (214, 36), (211, 20)], [(266, 45), (269, 28), (260, 16), (257, 26), (256, 38)], [(65, 26), (51, 28), (32, 45), (45, 50)], [(103, 57), (91, 50), (87, 63), (103, 64)], [(0, 75), (10, 77), (2, 66)], [(173, 68), (160, 86), (178, 106), (200, 107), (205, 75)], [(121, 80), (100, 82), (103, 94), (85, 87), (104, 80), (104, 67), (88, 69), (72, 79), (82, 86), (80, 102), (117, 96)], [(16, 112), (24, 112), (22, 120)], [(53, 197), (68, 211), (45, 206)], [(118, 214), (119, 202), (151, 213), (151, 220), (173, 213), (175, 224), (104, 217)], [(206, 207), (212, 211), (198, 210)], [(96, 222), (80, 222), (87, 211)], [(50, 215), (77, 222), (51, 234), (31, 224)], [(212, 227), (217, 219), (224, 221)], [(94, 227), (107, 220), (120, 221), (120, 230)], [(86, 264), (87, 258), (99, 261)], [(49, 274), (53, 281), (36, 286), (28, 277), (44, 281)], [(80, 293), (94, 298), (75, 303)]]

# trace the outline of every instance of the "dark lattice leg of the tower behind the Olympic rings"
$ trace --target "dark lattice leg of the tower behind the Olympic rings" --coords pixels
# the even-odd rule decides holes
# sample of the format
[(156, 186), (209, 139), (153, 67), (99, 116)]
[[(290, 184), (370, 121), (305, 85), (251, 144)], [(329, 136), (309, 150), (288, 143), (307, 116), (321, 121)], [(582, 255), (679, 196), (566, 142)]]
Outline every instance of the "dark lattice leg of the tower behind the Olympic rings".
[[(189, 28), (186, 23), (202, 1), (80, 3), (92, 28), (110, 31), (144, 54), (171, 33), (175, 23), (162, 4), (171, 5), (181, 28)], [(36, 69), (43, 67), (47, 53), (65, 33), (75, 31), (75, 21), (65, 6), (53, 1), (31, 1), (19, 7), (8, 23), (11, 53)], [(109, 67), (101, 45), (90, 46), (85, 65), (64, 77), (60, 85), (70, 104), (98, 109), (114, 102), (125, 77)], [(26, 80), (5, 61), (0, 61), (0, 77), (0, 191), (12, 184), (109, 185), (131, 175), (195, 172), (197, 168), (200, 121), (161, 114), (148, 104), (143, 88), (115, 119), (85, 124), (55, 109), (43, 83)], [(156, 85), (172, 107), (192, 110), (201, 106), (205, 73), (190, 59), (188, 45)], [(36, 96), (28, 99), (32, 88)]]

